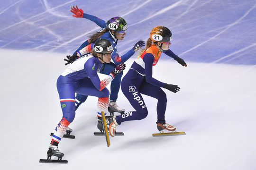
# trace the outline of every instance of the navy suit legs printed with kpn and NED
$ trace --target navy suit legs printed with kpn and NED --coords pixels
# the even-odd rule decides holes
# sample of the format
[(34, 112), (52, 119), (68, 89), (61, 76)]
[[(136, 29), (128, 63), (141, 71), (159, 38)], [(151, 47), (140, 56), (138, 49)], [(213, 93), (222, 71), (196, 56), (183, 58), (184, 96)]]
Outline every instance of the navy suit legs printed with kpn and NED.
[(116, 116), (116, 121), (119, 125), (124, 121), (146, 118), (148, 111), (141, 94), (158, 100), (156, 106), (157, 122), (165, 123), (167, 98), (165, 92), (160, 87), (147, 83), (145, 76), (141, 76), (135, 70), (130, 69), (122, 79), (121, 89), (136, 111), (129, 111), (123, 115)]

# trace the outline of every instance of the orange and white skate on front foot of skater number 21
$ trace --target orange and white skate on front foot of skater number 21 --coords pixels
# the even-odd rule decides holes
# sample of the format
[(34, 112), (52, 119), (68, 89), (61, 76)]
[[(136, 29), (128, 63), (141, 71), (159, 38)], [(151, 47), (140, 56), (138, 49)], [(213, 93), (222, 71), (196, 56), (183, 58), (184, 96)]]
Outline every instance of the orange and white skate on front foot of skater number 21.
[[(168, 123), (156, 123), (156, 127), (159, 133), (152, 134), (152, 136), (177, 136), (186, 135), (185, 132), (176, 132), (176, 127), (169, 125)], [(171, 131), (169, 133), (164, 133), (164, 130)]]

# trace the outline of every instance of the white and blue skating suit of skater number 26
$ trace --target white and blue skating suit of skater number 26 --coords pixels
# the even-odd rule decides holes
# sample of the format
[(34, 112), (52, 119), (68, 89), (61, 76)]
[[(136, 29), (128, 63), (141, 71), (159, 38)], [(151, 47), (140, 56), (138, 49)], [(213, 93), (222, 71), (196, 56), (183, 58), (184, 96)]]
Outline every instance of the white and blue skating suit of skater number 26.
[(107, 112), (110, 92), (105, 88), (112, 80), (110, 74), (104, 80), (100, 80), (97, 71), (102, 63), (91, 54), (74, 61), (57, 80), (57, 89), (60, 97), (63, 118), (55, 128), (51, 144), (58, 144), (67, 127), (75, 117), (75, 93), (99, 97), (98, 116), (101, 111)]

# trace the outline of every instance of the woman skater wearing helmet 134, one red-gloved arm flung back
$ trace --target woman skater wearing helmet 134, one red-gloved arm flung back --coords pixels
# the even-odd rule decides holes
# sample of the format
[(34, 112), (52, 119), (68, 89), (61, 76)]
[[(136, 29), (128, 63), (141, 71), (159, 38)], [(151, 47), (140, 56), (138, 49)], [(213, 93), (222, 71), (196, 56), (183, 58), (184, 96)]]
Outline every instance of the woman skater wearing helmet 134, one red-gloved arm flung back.
[[(144, 41), (138, 41), (134, 45), (134, 47), (131, 50), (129, 50), (126, 54), (119, 56), (119, 53), (117, 51), (117, 43), (118, 43), (118, 40), (124, 39), (126, 35), (126, 30), (128, 28), (126, 21), (122, 17), (113, 17), (107, 22), (105, 22), (104, 20), (98, 17), (83, 13), (83, 10), (79, 9), (77, 6), (71, 7), (71, 12), (74, 14), (73, 17), (82, 17), (82, 18), (89, 19), (103, 29), (100, 32), (97, 32), (91, 35), (91, 37), (88, 40), (83, 42), (82, 45), (73, 53), (73, 56), (67, 56), (67, 59), (64, 59), (67, 61), (66, 64), (69, 64), (73, 62), (75, 59), (85, 55), (86, 52), (84, 51), (88, 51), (88, 49), (86, 49), (86, 46), (88, 46), (90, 43), (97, 41), (98, 39), (106, 39), (112, 43), (113, 53), (111, 58), (116, 65), (119, 65), (120, 63), (124, 63), (135, 53), (135, 51), (137, 51), (140, 47), (145, 46)], [(106, 65), (105, 68), (101, 69), (100, 73), (108, 75), (109, 71), (113, 68), (114, 66)], [(124, 109), (121, 109), (116, 103), (118, 98), (119, 88), (121, 85), (122, 75), (123, 75), (122, 73), (119, 74), (111, 82), (110, 105), (109, 105), (110, 112), (125, 111)], [(76, 109), (82, 104), (82, 102), (85, 102), (86, 99), (87, 99), (86, 95), (82, 95), (78, 93), (76, 96)]]

